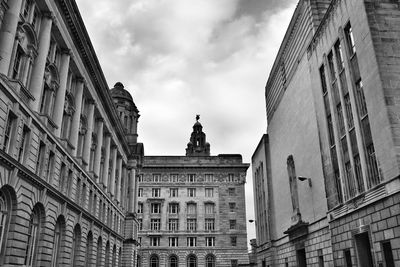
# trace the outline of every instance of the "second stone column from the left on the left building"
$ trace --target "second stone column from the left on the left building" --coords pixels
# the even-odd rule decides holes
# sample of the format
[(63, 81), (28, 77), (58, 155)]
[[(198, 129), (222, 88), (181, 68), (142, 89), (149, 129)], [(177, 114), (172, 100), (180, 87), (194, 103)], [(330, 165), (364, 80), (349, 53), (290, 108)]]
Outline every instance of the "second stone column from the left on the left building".
[(43, 77), (46, 68), (47, 54), (49, 53), (51, 26), (53, 24), (53, 20), (54, 16), (51, 12), (44, 14), (42, 24), (40, 26), (38, 56), (36, 57), (35, 64), (33, 65), (31, 75), (32, 79), (30, 91), (35, 98), (31, 102), (31, 108), (37, 112), (39, 112), (40, 100), (43, 91)]

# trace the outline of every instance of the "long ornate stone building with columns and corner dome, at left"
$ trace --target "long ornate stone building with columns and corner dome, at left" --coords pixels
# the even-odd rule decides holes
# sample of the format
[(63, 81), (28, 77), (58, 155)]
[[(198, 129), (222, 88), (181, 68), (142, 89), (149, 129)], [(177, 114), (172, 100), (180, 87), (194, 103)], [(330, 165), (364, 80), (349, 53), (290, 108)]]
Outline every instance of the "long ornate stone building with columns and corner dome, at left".
[(0, 1), (0, 265), (135, 266), (138, 110), (75, 1)]

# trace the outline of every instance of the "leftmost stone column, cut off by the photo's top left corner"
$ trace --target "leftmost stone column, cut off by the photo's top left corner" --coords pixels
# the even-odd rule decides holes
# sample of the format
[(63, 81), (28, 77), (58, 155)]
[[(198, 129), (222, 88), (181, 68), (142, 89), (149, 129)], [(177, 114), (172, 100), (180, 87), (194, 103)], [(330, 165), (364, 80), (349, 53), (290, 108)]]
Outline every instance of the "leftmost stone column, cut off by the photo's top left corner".
[(0, 73), (8, 75), (22, 0), (8, 1), (0, 29)]

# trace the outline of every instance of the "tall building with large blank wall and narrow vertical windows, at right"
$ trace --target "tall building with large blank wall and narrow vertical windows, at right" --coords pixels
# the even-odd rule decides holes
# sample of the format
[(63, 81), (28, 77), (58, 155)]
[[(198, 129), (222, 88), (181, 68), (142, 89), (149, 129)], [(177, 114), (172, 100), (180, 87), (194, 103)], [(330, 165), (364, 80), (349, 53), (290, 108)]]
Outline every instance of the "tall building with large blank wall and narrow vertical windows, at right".
[(400, 264), (399, 5), (299, 1), (252, 158), (260, 266)]

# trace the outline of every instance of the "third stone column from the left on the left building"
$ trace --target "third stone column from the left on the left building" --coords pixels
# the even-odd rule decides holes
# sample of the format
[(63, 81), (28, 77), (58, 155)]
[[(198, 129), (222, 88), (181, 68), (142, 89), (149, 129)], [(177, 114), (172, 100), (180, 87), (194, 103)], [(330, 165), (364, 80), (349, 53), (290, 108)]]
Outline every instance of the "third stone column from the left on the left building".
[[(70, 51), (65, 51), (61, 56), (60, 86), (58, 87), (56, 100), (54, 102), (53, 120), (58, 126), (58, 128), (55, 130), (54, 133), (57, 137), (60, 137), (61, 135), (62, 119), (64, 114), (65, 92), (67, 91), (69, 60), (70, 60)], [(77, 110), (75, 110), (75, 113), (76, 111)], [(73, 131), (75, 130), (74, 128), (72, 129)]]

